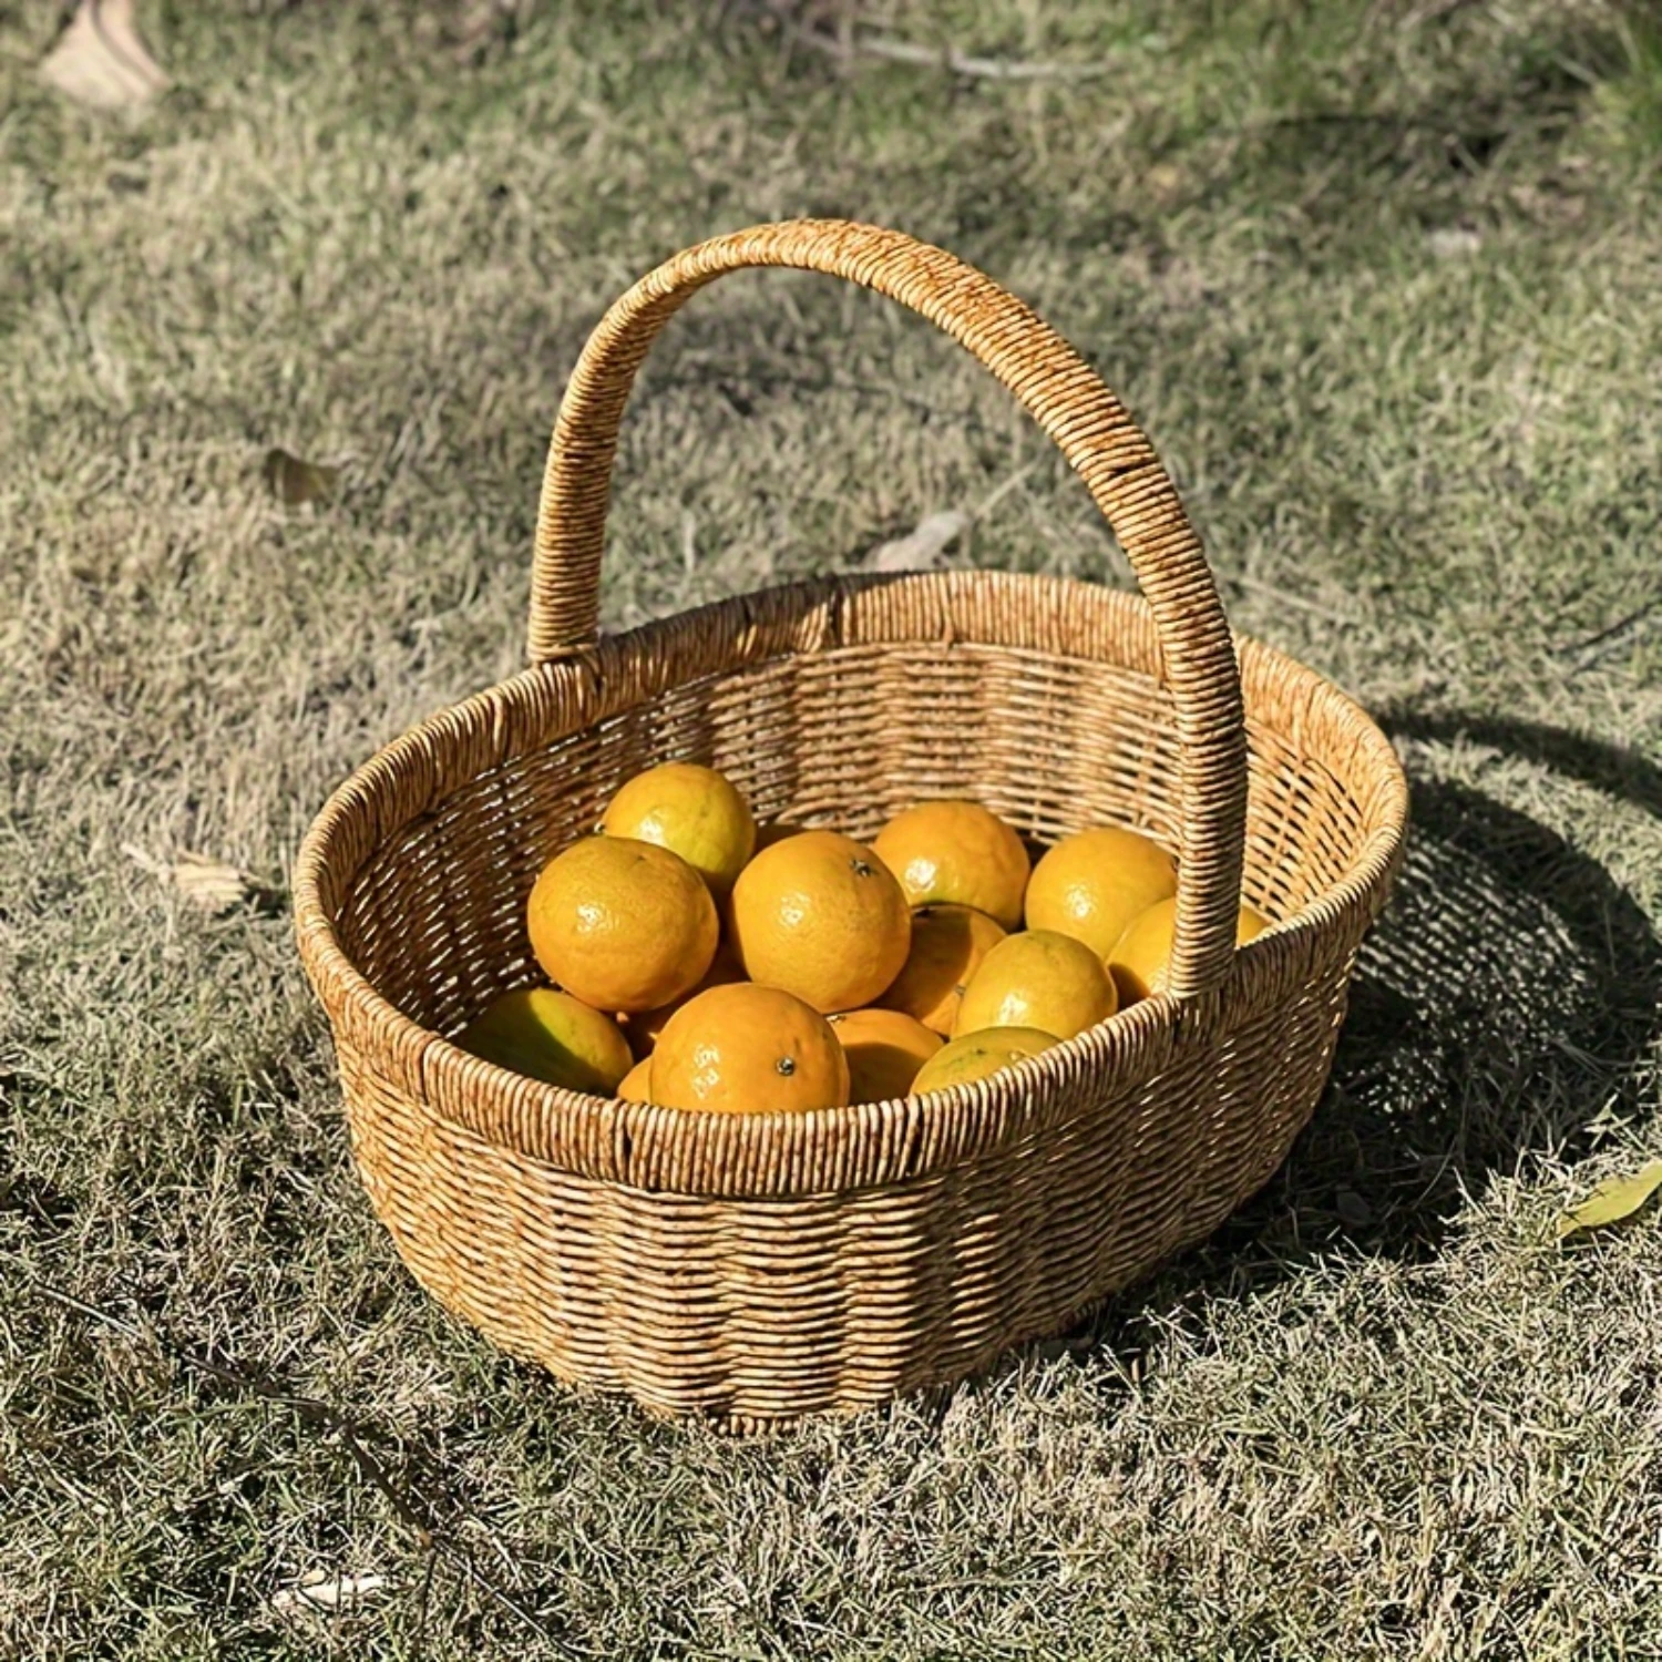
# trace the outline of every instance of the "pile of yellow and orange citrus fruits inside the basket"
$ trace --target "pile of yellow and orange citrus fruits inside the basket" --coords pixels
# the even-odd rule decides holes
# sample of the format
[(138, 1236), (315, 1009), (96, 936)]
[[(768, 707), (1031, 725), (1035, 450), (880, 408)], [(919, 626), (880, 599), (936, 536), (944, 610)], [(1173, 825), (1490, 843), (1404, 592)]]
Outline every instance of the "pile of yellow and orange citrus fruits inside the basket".
[[(572, 1090), (718, 1112), (826, 1109), (984, 1079), (1162, 986), (1170, 856), (1119, 826), (1034, 866), (972, 801), (926, 801), (866, 846), (756, 828), (711, 768), (630, 779), (527, 906), (550, 987), (459, 1037)], [(1242, 907), (1237, 939), (1268, 926)]]

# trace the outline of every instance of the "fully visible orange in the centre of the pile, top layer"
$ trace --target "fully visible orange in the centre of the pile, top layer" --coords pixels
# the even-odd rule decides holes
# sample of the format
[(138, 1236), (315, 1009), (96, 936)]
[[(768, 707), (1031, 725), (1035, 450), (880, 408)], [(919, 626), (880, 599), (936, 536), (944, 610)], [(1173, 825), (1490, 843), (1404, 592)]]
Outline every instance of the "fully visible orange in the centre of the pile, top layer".
[(816, 1010), (858, 1010), (906, 962), (906, 896), (876, 854), (836, 831), (763, 849), (733, 884), (733, 946), (751, 981)]

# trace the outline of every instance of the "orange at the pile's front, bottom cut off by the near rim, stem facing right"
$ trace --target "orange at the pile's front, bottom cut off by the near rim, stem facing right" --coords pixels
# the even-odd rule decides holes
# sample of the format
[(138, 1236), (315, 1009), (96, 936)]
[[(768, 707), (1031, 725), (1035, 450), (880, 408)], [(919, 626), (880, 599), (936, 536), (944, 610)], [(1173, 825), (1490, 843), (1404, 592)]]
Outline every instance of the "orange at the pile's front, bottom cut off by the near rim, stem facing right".
[(848, 1057), (831, 1024), (778, 987), (738, 982), (688, 999), (652, 1052), (652, 1095), (716, 1114), (834, 1109)]

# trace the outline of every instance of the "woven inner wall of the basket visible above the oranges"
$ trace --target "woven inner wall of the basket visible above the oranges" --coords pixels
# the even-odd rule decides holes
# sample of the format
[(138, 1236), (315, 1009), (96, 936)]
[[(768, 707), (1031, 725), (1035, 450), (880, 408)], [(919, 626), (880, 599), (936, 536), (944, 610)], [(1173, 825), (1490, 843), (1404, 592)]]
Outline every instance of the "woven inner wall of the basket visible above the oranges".
[[(1242, 665), (1245, 894), (1276, 921), (1351, 874), (1383, 813), (1355, 745), (1335, 738), (1325, 755), (1328, 725), (1290, 718), (1303, 706), (1290, 706), (1286, 663), (1260, 648)], [(1311, 696), (1325, 690), (1298, 673)], [(728, 773), (758, 821), (871, 836), (914, 801), (971, 796), (1035, 851), (1105, 823), (1178, 846), (1177, 731), (1152, 665), (962, 640), (844, 645), (683, 681), (457, 779), (349, 878), (341, 946), (404, 1015), (455, 1032), (540, 979), (524, 909), (542, 866), (627, 778), (675, 758)]]

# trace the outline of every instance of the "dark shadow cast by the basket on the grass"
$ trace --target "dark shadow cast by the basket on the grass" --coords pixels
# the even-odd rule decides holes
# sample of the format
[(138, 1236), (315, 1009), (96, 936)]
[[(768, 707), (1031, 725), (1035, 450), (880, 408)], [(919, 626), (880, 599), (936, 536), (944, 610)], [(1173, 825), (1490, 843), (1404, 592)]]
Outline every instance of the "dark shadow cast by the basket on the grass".
[[(1662, 818), (1662, 770), (1634, 751), (1527, 723), (1383, 725), (1494, 746)], [(1413, 766), (1409, 788), (1406, 863), (1286, 1162), (1205, 1243), (1029, 1355), (1133, 1355), (1142, 1316), (1260, 1291), (1333, 1250), (1423, 1260), (1463, 1192), (1531, 1152), (1576, 1157), (1634, 1107), (1662, 1039), (1655, 922), (1529, 814)]]

